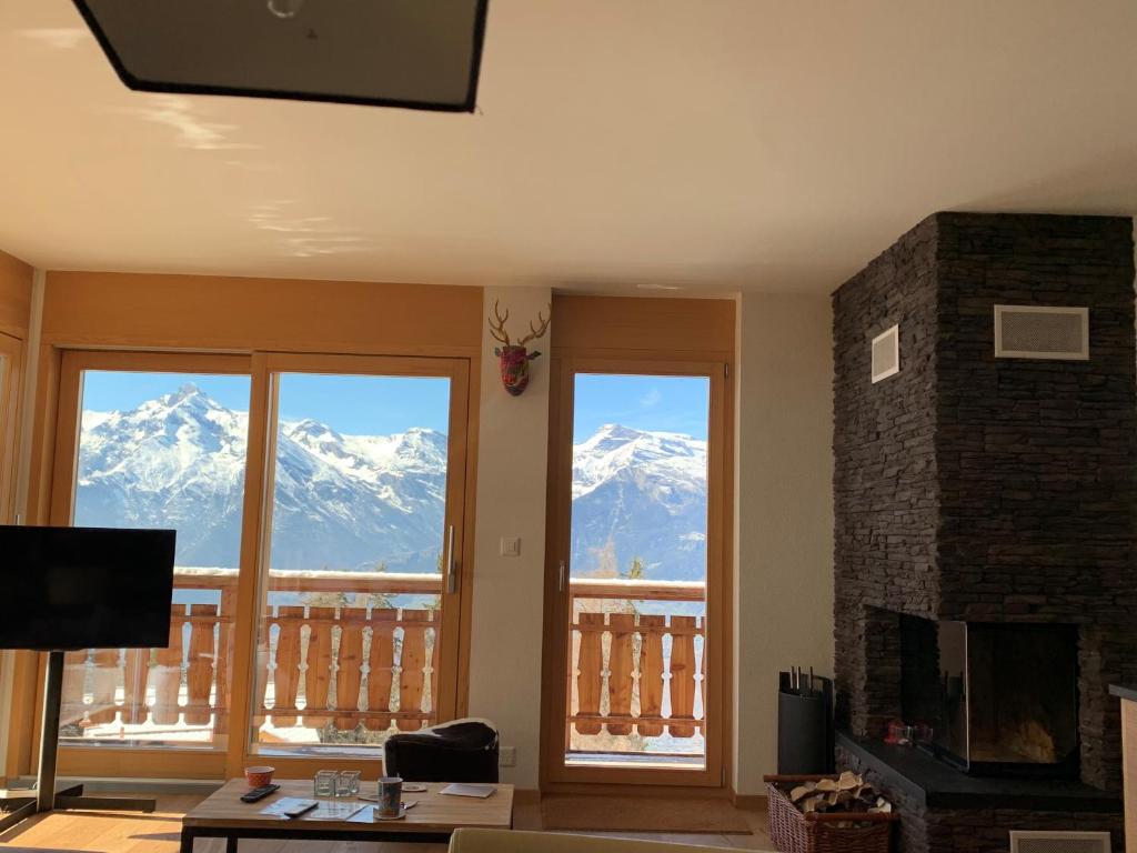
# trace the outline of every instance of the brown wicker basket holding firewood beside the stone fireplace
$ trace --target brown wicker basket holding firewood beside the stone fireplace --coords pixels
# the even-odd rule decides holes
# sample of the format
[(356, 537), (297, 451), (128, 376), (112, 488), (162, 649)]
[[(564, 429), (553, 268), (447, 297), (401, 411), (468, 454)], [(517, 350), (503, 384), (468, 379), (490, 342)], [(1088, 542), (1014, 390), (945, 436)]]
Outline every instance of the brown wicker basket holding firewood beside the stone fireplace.
[(781, 853), (888, 853), (895, 812), (804, 814), (789, 790), (837, 776), (765, 776), (770, 838)]

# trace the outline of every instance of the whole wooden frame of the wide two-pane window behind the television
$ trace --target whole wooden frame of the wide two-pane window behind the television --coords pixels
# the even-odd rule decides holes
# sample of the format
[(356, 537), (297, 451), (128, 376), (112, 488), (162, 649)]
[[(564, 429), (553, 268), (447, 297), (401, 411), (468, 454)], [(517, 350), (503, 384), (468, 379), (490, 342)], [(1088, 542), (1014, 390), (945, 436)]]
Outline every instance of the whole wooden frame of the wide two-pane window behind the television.
[[(0, 338), (5, 336), (0, 334)], [(50, 349), (50, 348), (47, 348)], [(470, 680), (470, 615), (474, 558), (473, 520), (476, 477), (476, 359), (434, 356), (322, 355), (322, 354), (202, 354), (194, 351), (125, 351), (125, 350), (55, 350), (57, 368), (51, 371), (49, 388), (55, 413), (50, 420), (55, 436), (47, 459), (50, 477), (47, 523), (69, 524), (74, 506), (74, 481), (77, 466), (81, 383), (84, 371), (123, 371), (148, 373), (213, 373), (251, 378), (249, 400), (249, 437), (244, 475), (244, 504), (240, 550), (240, 574), (236, 594), (238, 629), (233, 638), (233, 661), (230, 672), (230, 717), (232, 726), (227, 746), (210, 747), (90, 747), (60, 744), (59, 772), (75, 777), (140, 777), (181, 779), (224, 779), (240, 776), (250, 762), (263, 761), (251, 743), (251, 709), (249, 702), (256, 678), (252, 652), (257, 631), (257, 608), (262, 601), (262, 583), (267, 575), (260, 571), (267, 555), (267, 528), (263, 524), (271, 513), (271, 441), (269, 406), (274, 395), (275, 373), (356, 373), (366, 375), (430, 375), (450, 379), (449, 454), (460, 454), (462, 464), (450, 466), (447, 482), (447, 506), (455, 524), (456, 562), (462, 566), (462, 580), (451, 605), (453, 619), (442, 632), (440, 671), (453, 668), (453, 678), (440, 679), (438, 717), (440, 720), (462, 717), (467, 712)], [(49, 381), (47, 378), (44, 381)], [(451, 455), (448, 458), (459, 458)], [(468, 486), (468, 488), (467, 488)], [(448, 519), (449, 521), (449, 519)], [(40, 702), (45, 657), (20, 653), (23, 682), (34, 679), (32, 691), (17, 691), (13, 707), (27, 726), (14, 726), (9, 731), (8, 772), (26, 772), (28, 757), (24, 748), (28, 740), (40, 738)], [(24, 668), (30, 668), (31, 671)], [(28, 685), (31, 686), (31, 685)], [(16, 750), (15, 747), (20, 747)], [(34, 759), (32, 759), (34, 762)], [(310, 776), (327, 757), (277, 756), (272, 763), (284, 776)], [(337, 767), (356, 769), (367, 778), (376, 778), (382, 763), (375, 756), (337, 755)]]

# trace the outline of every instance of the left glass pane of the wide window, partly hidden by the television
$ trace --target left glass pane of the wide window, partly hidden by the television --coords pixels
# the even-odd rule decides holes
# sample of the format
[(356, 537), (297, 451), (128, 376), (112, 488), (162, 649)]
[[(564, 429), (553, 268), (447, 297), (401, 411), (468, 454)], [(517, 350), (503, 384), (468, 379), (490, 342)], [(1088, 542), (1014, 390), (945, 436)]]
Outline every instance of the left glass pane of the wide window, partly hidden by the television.
[(73, 523), (177, 531), (168, 648), (70, 652), (60, 736), (223, 748), (248, 376), (86, 371)]

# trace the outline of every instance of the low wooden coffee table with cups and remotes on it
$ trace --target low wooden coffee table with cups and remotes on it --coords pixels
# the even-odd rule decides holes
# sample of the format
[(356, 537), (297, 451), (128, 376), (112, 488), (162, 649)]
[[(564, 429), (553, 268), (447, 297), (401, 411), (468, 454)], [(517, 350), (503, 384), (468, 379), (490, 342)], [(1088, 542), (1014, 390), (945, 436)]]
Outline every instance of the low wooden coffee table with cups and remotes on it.
[[(226, 853), (236, 853), (239, 838), (282, 838), (360, 842), (447, 842), (458, 827), (513, 828), (513, 786), (497, 785), (485, 800), (439, 794), (445, 784), (426, 785), (426, 793), (404, 793), (402, 801), (417, 804), (401, 820), (352, 822), (347, 820), (289, 820), (260, 810), (281, 797), (315, 798), (310, 779), (277, 779), (280, 790), (257, 803), (242, 803), (249, 789), (244, 779), (231, 779), (182, 818), (181, 853), (193, 852), (194, 838), (225, 838)], [(367, 786), (374, 793), (374, 782)], [(349, 801), (339, 801), (349, 802)], [(371, 808), (374, 803), (363, 803)]]

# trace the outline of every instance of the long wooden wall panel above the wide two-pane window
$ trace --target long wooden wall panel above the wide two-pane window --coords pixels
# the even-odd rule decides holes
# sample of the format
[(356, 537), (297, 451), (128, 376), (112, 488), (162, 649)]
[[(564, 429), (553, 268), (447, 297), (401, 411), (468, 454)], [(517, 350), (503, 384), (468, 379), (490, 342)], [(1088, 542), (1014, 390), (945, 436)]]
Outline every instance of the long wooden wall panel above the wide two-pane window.
[(481, 288), (52, 272), (43, 341), (65, 347), (476, 356)]

